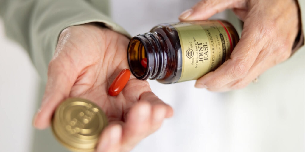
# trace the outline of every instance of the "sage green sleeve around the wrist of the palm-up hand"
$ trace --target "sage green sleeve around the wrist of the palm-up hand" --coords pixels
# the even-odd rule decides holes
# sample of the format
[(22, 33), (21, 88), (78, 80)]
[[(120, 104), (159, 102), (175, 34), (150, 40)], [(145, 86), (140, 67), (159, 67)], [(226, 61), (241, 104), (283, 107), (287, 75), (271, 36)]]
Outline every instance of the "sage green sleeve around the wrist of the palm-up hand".
[(28, 51), (43, 80), (59, 34), (66, 27), (102, 22), (129, 36), (106, 15), (108, 9), (106, 0), (0, 0), (6, 35)]

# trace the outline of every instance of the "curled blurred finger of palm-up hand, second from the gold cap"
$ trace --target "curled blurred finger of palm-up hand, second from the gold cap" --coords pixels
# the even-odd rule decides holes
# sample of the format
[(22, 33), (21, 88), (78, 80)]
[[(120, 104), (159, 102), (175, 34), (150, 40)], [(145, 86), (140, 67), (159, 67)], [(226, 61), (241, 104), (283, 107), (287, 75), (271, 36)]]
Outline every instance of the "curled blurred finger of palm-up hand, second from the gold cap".
[(130, 109), (123, 126), (122, 151), (129, 151), (148, 136), (152, 109), (149, 102), (138, 102)]

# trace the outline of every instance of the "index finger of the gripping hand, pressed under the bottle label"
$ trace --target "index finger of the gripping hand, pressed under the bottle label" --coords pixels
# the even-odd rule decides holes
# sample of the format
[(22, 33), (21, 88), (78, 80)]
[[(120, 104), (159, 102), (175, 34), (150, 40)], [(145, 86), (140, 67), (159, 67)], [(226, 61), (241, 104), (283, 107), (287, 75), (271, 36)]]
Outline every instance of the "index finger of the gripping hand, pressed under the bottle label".
[(245, 27), (230, 59), (215, 71), (199, 78), (195, 87), (217, 89), (246, 76), (267, 39), (272, 35), (272, 30), (265, 29), (263, 25)]

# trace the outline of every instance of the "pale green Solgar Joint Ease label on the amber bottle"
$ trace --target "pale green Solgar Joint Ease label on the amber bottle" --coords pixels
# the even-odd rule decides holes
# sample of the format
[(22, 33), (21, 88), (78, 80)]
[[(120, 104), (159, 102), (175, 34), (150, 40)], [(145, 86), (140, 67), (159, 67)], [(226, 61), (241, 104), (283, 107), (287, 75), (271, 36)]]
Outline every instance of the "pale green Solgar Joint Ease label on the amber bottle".
[(179, 22), (171, 25), (177, 30), (181, 43), (182, 73), (178, 82), (198, 79), (230, 57), (232, 41), (221, 21)]

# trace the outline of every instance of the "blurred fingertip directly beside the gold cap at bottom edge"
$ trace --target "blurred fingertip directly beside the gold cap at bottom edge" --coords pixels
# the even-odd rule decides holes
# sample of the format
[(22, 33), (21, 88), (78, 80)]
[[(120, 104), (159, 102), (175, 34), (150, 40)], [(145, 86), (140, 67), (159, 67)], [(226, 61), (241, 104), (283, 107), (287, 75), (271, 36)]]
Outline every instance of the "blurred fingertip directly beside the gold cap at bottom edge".
[(121, 149), (122, 126), (112, 124), (107, 126), (99, 139), (96, 152), (119, 152)]

